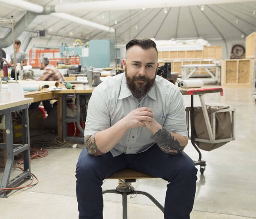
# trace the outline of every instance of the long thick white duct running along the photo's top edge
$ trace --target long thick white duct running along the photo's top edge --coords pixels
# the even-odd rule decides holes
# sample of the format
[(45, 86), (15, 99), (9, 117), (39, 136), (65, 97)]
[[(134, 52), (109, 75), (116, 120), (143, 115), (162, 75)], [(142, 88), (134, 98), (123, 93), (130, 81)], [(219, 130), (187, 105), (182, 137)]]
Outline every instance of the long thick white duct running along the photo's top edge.
[(111, 10), (134, 10), (134, 9), (151, 9), (151, 8), (166, 8), (193, 6), (205, 4), (222, 4), (234, 3), (253, 0), (109, 0), (109, 1), (85, 1), (76, 3), (61, 3), (55, 5), (55, 12), (72, 13), (77, 11), (111, 11)]

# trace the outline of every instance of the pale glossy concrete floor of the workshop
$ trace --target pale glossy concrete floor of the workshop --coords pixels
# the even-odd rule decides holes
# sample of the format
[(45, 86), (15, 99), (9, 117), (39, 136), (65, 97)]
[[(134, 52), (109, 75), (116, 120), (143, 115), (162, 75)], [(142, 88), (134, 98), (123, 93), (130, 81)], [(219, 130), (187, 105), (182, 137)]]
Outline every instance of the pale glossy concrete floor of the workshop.
[[(198, 172), (197, 192), (191, 219), (256, 218), (256, 104), (251, 88), (224, 88), (224, 96), (205, 95), (206, 104), (236, 108), (236, 140), (211, 152), (202, 151), (206, 160), (204, 175)], [(190, 97), (184, 96), (187, 106)], [(199, 98), (195, 96), (195, 105)], [(253, 143), (254, 142), (254, 143)], [(49, 155), (33, 160), (31, 170), (38, 185), (0, 198), (0, 218), (75, 219), (75, 164), (80, 148), (49, 149)], [(189, 143), (185, 152), (197, 160), (198, 154)], [(14, 170), (12, 175), (19, 170)], [(0, 169), (0, 179), (3, 170)], [(25, 182), (24, 184), (26, 184)], [(166, 182), (162, 179), (140, 179), (137, 190), (148, 191), (164, 203)], [(107, 180), (103, 189), (113, 189), (117, 180)], [(146, 197), (128, 198), (128, 218), (163, 218), (163, 213)], [(122, 218), (121, 196), (104, 195), (104, 218)]]

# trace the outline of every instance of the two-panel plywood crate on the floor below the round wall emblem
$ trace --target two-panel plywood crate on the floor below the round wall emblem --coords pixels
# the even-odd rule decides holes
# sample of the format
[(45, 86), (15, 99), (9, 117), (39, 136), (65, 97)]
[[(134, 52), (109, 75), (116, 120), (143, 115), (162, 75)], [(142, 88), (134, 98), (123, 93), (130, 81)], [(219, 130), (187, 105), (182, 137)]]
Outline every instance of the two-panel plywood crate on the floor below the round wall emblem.
[(221, 85), (252, 86), (253, 59), (227, 59), (221, 62)]

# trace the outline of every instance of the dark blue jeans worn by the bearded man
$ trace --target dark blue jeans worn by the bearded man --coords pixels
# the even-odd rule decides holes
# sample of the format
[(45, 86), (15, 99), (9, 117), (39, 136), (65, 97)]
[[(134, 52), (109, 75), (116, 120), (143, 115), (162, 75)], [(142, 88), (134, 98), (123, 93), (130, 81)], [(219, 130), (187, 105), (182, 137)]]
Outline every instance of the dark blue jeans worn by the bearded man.
[[(157, 144), (139, 154), (110, 152), (93, 157), (84, 148), (77, 162), (77, 201), (80, 219), (102, 219), (102, 181), (129, 167), (168, 181), (164, 204), (165, 219), (189, 219), (196, 192), (197, 169), (187, 154), (169, 155)], [(150, 193), (150, 191), (148, 191)]]

